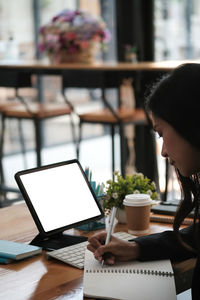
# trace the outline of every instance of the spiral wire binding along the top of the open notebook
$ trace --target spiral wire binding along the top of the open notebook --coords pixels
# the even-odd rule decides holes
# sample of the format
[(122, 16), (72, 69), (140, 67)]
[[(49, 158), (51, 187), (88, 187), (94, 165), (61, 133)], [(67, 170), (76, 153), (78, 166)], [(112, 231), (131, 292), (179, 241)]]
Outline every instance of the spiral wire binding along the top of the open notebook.
[(141, 270), (141, 269), (89, 269), (85, 271), (86, 273), (110, 273), (110, 274), (142, 274), (142, 275), (155, 275), (155, 276), (163, 276), (163, 277), (173, 277), (174, 274), (172, 272), (162, 272), (162, 271), (154, 271), (154, 270)]

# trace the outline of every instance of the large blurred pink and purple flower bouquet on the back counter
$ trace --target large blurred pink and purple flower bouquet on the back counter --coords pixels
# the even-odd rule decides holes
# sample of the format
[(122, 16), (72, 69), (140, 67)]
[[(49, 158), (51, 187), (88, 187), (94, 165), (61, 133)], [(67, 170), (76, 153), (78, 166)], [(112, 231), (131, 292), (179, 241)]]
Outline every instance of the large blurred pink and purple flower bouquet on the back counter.
[(82, 10), (63, 10), (39, 31), (38, 51), (69, 57), (90, 52), (94, 45), (105, 49), (110, 32), (101, 18)]

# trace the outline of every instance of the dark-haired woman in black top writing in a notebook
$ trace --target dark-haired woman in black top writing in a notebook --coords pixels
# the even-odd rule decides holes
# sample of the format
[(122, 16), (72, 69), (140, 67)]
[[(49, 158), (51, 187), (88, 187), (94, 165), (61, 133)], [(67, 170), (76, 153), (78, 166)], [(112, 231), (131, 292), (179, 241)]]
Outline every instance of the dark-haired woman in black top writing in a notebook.
[[(174, 231), (138, 237), (133, 242), (115, 237), (104, 245), (106, 233), (89, 239), (88, 249), (102, 261), (141, 261), (197, 257), (192, 299), (200, 299), (200, 64), (184, 64), (161, 79), (150, 93), (147, 110), (154, 130), (163, 139), (162, 156), (176, 169), (184, 199), (176, 213)], [(179, 230), (194, 209), (192, 226)]]

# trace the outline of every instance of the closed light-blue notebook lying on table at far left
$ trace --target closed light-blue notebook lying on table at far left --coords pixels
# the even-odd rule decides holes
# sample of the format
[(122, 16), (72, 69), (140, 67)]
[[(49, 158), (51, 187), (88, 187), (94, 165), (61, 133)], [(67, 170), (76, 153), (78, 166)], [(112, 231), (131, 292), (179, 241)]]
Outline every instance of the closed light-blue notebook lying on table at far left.
[(4, 259), (20, 260), (42, 252), (42, 248), (29, 244), (0, 240), (0, 262), (8, 263)]

